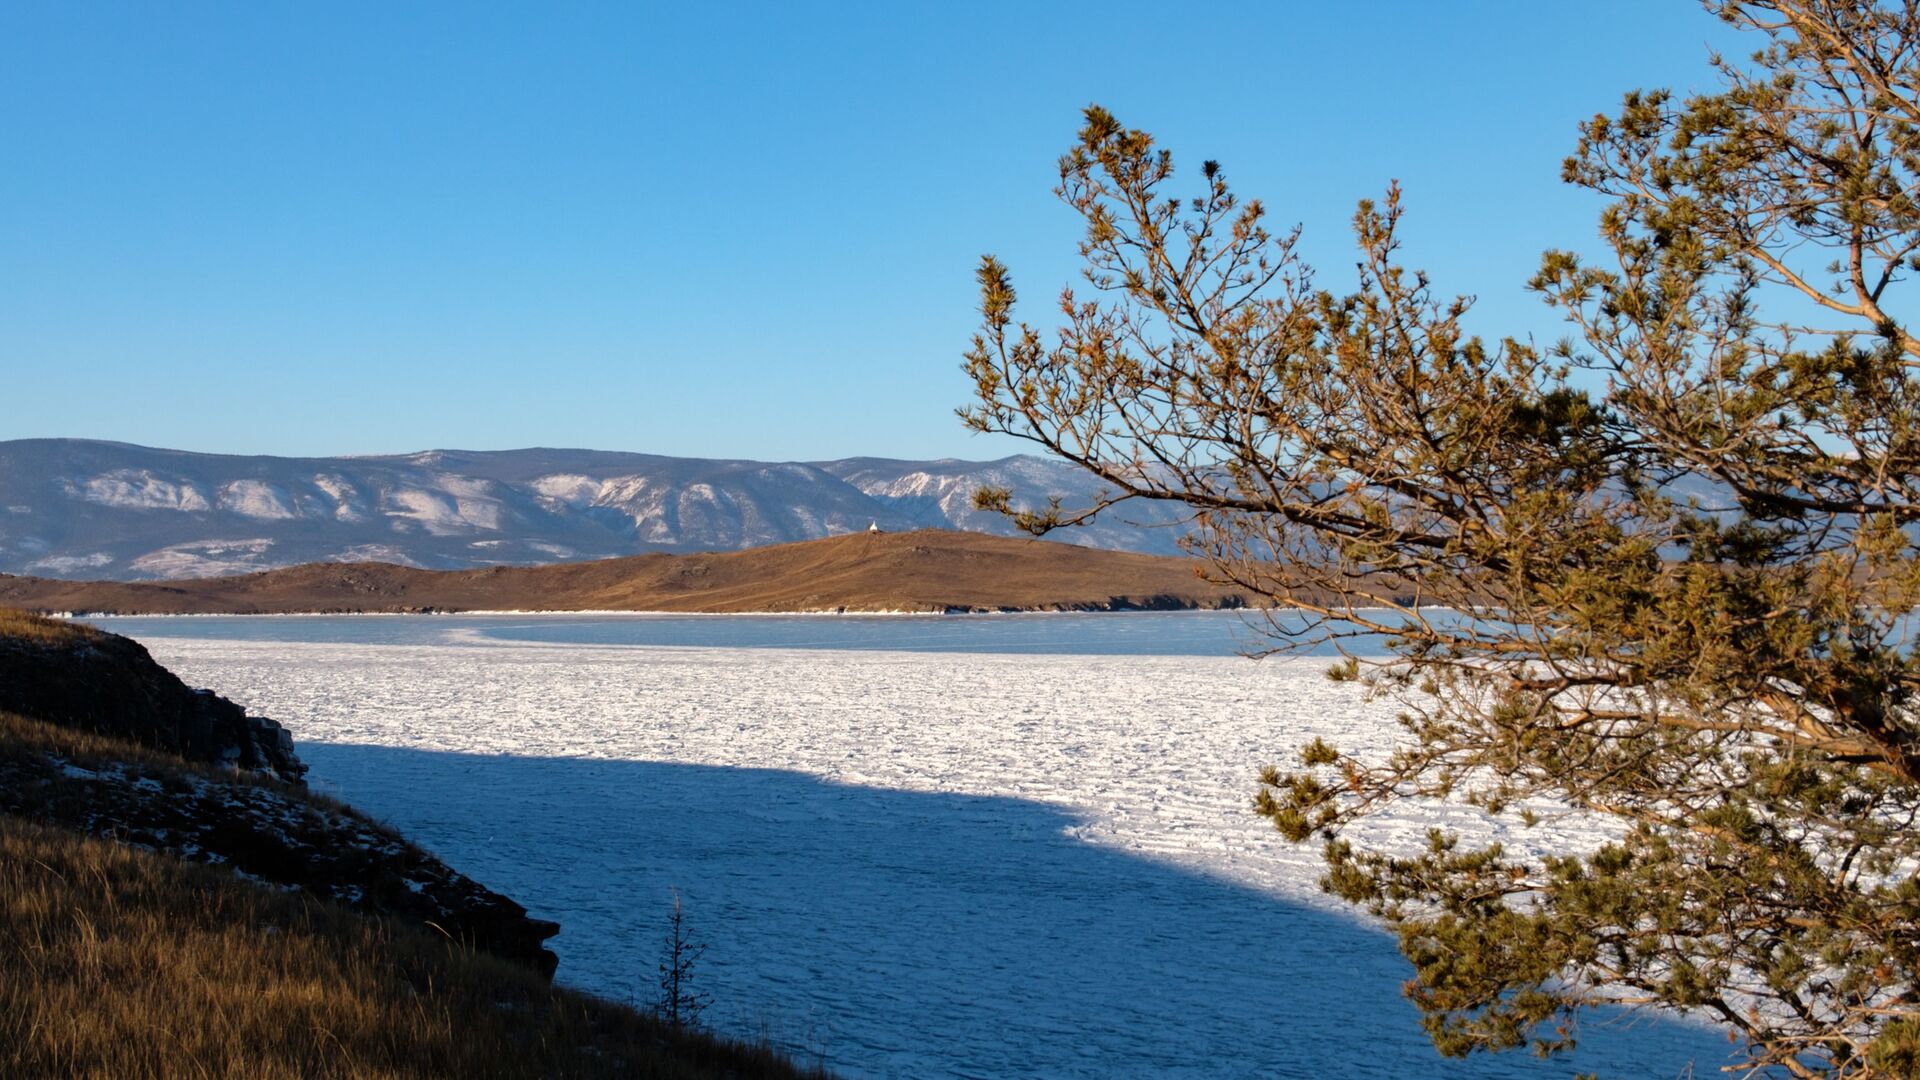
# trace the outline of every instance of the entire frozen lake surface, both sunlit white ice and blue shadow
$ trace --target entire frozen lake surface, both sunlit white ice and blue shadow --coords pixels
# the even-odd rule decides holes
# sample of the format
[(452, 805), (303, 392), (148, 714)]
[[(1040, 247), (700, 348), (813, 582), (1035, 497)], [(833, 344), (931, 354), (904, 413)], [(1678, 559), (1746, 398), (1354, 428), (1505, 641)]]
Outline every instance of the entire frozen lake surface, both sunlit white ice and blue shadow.
[[(1313, 736), (1384, 751), (1236, 615), (102, 619), (294, 732), (319, 790), (555, 919), (647, 999), (678, 888), (708, 1020), (849, 1076), (1678, 1076), (1716, 1032), (1450, 1063), (1392, 940), (1254, 817)], [(1365, 834), (1415, 844), (1453, 809)], [(1509, 846), (1603, 834), (1555, 819)]]

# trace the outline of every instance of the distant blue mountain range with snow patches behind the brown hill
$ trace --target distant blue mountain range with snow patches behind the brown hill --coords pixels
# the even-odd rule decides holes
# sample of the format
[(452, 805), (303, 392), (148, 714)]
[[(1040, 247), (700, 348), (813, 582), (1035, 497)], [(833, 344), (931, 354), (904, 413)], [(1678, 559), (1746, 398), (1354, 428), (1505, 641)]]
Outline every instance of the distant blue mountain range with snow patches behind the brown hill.
[[(1098, 482), (1043, 457), (768, 463), (597, 450), (430, 450), (397, 457), (242, 457), (121, 442), (0, 442), (0, 573), (175, 578), (323, 559), (430, 569), (707, 552), (877, 523), (1012, 532), (979, 486), (1039, 503)], [(1058, 534), (1175, 552), (1179, 515), (1146, 507)]]

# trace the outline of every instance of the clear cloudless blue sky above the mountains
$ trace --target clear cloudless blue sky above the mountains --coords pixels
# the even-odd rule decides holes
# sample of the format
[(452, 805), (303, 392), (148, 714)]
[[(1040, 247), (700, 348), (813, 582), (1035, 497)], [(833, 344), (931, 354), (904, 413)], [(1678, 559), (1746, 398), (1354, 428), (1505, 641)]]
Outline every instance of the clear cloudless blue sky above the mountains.
[(1574, 125), (1711, 86), (1686, 0), (0, 4), (0, 438), (238, 454), (996, 457), (973, 265), (1073, 279), (1100, 102), (1325, 284), (1407, 190), (1476, 329), (1594, 246)]

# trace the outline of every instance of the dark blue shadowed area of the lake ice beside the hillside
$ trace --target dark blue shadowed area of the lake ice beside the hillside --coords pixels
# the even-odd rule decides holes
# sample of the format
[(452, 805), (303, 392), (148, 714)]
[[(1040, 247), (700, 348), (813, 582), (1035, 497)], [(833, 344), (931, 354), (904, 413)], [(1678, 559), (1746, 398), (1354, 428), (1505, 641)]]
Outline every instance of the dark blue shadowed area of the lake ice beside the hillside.
[(1050, 803), (653, 761), (301, 755), (321, 790), (557, 919), (561, 982), (647, 1001), (678, 888), (708, 945), (708, 1020), (851, 1076), (1711, 1076), (1728, 1051), (1692, 1024), (1588, 1017), (1574, 1055), (1440, 1059), (1384, 932), (1075, 840), (1081, 819)]

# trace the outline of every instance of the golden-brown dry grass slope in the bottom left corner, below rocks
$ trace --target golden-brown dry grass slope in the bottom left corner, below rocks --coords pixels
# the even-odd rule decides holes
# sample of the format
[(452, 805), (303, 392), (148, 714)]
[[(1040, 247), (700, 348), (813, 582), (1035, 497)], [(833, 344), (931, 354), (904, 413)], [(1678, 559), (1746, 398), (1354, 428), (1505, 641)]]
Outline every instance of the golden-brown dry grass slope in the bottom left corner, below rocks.
[(0, 1074), (795, 1070), (422, 932), (0, 815)]

